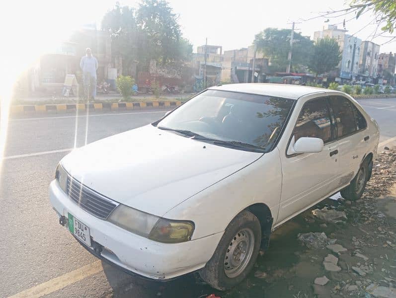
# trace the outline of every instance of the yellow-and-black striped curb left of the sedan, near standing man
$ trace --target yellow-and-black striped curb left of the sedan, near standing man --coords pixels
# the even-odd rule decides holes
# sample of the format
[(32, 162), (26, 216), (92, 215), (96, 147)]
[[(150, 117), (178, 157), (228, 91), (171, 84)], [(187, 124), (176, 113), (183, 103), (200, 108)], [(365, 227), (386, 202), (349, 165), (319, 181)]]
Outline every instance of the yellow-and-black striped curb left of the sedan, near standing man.
[(76, 111), (128, 111), (150, 108), (173, 108), (181, 104), (180, 101), (147, 101), (147, 102), (102, 102), (102, 103), (72, 103), (72, 104), (24, 104), (10, 107), (11, 115), (25, 113), (68, 113)]

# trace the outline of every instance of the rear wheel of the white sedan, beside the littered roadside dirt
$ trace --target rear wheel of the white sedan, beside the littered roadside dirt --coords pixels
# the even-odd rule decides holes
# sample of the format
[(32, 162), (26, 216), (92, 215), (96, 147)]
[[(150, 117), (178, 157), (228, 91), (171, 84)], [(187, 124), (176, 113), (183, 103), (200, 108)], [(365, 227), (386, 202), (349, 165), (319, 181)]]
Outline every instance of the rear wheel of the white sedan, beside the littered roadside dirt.
[[(371, 176), (369, 163), (368, 160), (364, 160), (351, 183), (341, 190), (341, 196), (344, 199), (356, 201), (362, 197), (364, 189), (366, 188), (366, 183)], [(364, 180), (362, 181), (361, 179), (363, 179), (363, 177)]]

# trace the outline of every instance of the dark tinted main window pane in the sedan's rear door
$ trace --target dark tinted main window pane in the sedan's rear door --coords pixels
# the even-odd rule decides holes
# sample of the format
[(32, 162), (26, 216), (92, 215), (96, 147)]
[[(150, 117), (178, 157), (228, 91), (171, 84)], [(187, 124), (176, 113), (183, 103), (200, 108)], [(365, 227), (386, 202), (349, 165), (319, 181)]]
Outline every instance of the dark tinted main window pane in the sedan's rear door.
[(337, 124), (338, 138), (354, 133), (356, 131), (356, 122), (352, 103), (342, 96), (330, 97), (330, 103), (332, 105), (335, 122)]

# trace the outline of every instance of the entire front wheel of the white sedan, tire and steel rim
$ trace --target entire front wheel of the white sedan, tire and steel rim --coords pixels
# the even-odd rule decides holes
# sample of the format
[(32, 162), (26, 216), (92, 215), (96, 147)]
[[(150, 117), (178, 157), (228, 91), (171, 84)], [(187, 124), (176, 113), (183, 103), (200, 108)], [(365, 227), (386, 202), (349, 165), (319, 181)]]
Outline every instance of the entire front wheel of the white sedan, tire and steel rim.
[(240, 212), (227, 226), (212, 258), (199, 271), (201, 278), (218, 290), (234, 287), (253, 268), (260, 242), (257, 217), (245, 210)]

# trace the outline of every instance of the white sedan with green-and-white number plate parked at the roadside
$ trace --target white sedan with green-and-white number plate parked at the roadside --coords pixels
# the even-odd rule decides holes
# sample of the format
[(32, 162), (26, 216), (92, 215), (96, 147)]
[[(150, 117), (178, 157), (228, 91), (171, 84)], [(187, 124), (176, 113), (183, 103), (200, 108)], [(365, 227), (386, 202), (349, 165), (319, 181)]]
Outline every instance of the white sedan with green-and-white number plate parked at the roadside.
[(361, 197), (379, 129), (349, 95), (284, 84), (229, 84), (158, 121), (76, 149), (50, 201), (88, 251), (131, 274), (198, 271), (241, 282), (271, 231), (341, 191)]

